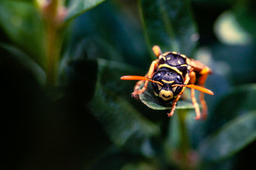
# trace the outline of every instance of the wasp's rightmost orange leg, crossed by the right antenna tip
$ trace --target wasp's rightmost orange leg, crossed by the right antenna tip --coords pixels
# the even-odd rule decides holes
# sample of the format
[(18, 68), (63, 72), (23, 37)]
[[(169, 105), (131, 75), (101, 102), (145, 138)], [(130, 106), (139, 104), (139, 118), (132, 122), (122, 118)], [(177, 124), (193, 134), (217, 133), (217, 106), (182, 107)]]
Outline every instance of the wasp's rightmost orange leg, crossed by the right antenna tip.
[[(210, 74), (211, 72), (212, 71), (209, 67), (204, 67), (204, 69), (202, 69), (202, 71), (200, 71), (199, 74), (202, 75), (202, 76), (200, 76), (200, 78), (198, 80), (198, 84), (200, 86), (204, 87), (205, 80), (207, 79), (208, 74)], [(200, 103), (202, 104), (202, 119), (205, 120), (205, 118), (207, 117), (207, 104), (205, 102), (203, 92), (200, 92), (199, 99), (200, 99)]]

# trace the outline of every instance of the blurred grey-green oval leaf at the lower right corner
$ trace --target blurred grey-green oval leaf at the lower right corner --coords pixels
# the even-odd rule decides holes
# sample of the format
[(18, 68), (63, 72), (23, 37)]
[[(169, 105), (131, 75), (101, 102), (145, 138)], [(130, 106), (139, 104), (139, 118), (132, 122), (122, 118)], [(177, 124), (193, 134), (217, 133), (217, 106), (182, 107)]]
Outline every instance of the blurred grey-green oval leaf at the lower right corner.
[(199, 152), (204, 160), (224, 159), (243, 149), (256, 139), (256, 111), (246, 113), (228, 122), (205, 139)]

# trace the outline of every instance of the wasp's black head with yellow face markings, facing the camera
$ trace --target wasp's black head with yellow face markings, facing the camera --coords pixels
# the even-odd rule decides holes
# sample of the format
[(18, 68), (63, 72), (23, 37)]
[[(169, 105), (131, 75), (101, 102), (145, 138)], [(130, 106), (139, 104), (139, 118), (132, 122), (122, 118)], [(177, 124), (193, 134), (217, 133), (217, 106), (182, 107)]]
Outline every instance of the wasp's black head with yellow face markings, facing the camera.
[(172, 101), (182, 90), (182, 87), (172, 87), (175, 84), (183, 84), (184, 80), (178, 73), (172, 71), (157, 71), (152, 80), (159, 81), (163, 86), (152, 83), (154, 94), (159, 98), (159, 101), (167, 103)]

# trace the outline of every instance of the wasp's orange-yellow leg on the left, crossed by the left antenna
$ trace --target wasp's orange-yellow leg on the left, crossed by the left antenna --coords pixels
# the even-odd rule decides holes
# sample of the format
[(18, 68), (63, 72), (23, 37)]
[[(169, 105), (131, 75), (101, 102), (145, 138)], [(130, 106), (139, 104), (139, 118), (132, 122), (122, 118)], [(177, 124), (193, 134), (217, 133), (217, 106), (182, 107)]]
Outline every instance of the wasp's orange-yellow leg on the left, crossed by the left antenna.
[[(148, 70), (148, 73), (146, 74), (147, 78), (152, 78), (155, 70), (157, 69), (157, 62), (158, 62), (158, 59), (154, 60), (151, 63), (150, 68)], [(143, 81), (145, 81), (145, 80), (140, 80), (140, 81), (138, 81), (138, 83), (136, 83), (136, 85), (134, 87), (134, 92), (132, 93), (133, 97), (136, 97), (138, 94), (141, 94), (141, 93), (145, 92), (145, 90), (147, 90), (147, 87), (148, 87), (148, 81), (147, 80), (145, 81), (144, 87), (142, 87), (142, 89), (140, 89), (140, 85), (141, 85), (141, 83), (143, 83)]]

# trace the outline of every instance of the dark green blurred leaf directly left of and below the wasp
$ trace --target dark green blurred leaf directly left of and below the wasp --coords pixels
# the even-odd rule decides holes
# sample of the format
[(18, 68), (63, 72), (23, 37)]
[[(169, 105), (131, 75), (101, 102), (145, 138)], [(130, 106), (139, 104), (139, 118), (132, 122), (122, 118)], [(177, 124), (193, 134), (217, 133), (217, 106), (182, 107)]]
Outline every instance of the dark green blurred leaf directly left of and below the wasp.
[[(124, 90), (127, 86), (125, 84), (129, 83), (121, 81), (120, 74), (124, 70), (128, 72), (131, 67), (102, 59), (98, 61), (98, 64), (95, 94), (86, 106), (99, 120), (116, 146), (130, 148), (129, 152), (152, 155), (148, 140), (150, 136), (159, 134), (159, 127), (143, 117), (127, 101), (126, 97), (131, 98), (130, 95), (126, 94), (123, 97), (124, 92), (127, 93), (127, 90)], [(111, 75), (115, 75), (115, 78), (113, 79)]]

